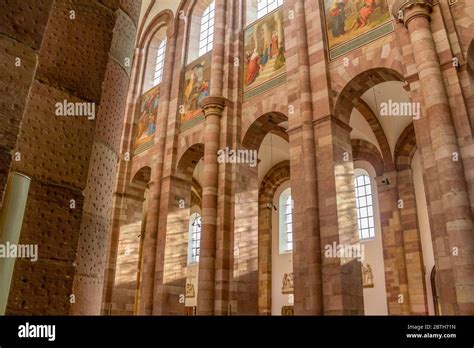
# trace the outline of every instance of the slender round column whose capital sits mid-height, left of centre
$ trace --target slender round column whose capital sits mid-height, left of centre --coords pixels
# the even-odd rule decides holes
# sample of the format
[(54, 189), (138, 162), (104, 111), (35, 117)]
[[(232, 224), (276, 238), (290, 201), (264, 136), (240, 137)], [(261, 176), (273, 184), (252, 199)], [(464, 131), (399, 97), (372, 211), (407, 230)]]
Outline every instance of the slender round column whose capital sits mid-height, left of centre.
[(199, 285), (197, 313), (214, 314), (217, 233), (217, 183), (219, 164), (220, 120), (225, 100), (207, 97), (202, 100), (204, 110), (204, 173), (202, 179), (201, 250), (199, 255)]

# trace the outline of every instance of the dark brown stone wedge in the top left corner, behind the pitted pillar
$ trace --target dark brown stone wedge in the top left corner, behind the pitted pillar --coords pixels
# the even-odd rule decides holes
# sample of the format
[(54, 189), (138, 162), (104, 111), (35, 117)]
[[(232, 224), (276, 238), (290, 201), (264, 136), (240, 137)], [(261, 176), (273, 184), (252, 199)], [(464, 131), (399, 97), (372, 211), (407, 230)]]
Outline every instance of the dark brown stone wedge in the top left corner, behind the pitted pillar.
[(51, 5), (52, 0), (0, 4), (0, 207)]

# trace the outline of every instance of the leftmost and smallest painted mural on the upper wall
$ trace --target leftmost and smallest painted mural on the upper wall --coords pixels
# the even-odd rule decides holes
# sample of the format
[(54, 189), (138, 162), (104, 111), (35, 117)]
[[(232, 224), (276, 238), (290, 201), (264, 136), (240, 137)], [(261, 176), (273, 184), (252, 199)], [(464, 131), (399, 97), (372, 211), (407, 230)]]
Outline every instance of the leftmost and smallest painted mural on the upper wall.
[(140, 98), (139, 118), (136, 125), (134, 153), (150, 148), (156, 133), (156, 118), (160, 101), (160, 86), (156, 86)]

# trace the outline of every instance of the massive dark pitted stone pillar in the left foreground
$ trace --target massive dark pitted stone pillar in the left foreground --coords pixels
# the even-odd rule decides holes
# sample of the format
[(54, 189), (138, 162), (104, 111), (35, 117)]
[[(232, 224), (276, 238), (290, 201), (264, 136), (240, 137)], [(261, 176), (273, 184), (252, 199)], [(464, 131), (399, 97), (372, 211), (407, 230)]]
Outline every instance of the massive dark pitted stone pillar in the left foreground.
[[(75, 306), (87, 308), (84, 313), (99, 313), (100, 296), (90, 291), (87, 299), (81, 298), (73, 290), (73, 281), (80, 277), (76, 276), (76, 266), (83, 273), (103, 273), (103, 263), (96, 261), (105, 255), (108, 221), (94, 220), (83, 213), (93, 210), (106, 216), (110, 210), (111, 189), (103, 183), (113, 182), (110, 169), (115, 170), (117, 155), (111, 156), (110, 149), (117, 147), (114, 143), (120, 139), (123, 116), (117, 106), (120, 102), (112, 99), (125, 103), (128, 78), (120, 81), (120, 71), (110, 67), (109, 48), (114, 28), (119, 32), (126, 29), (120, 20), (115, 25), (120, 17), (118, 2), (103, 6), (90, 1), (56, 1), (45, 29), (50, 2), (36, 2), (27, 9), (16, 3), (10, 5), (6, 17), (16, 21), (26, 18), (24, 13), (20, 16), (16, 12), (40, 12), (29, 16), (38, 26), (28, 24), (29, 29), (23, 33), (32, 48), (39, 49), (38, 67), (15, 149), (21, 161), (13, 167), (32, 177), (20, 242), (37, 243), (39, 261), (29, 265), (17, 262), (7, 313), (68, 314), (74, 303), (72, 294)], [(44, 39), (40, 35), (43, 30)], [(134, 32), (128, 31), (121, 44), (127, 38), (127, 49), (131, 49)], [(122, 90), (114, 93), (107, 85)], [(85, 117), (57, 117), (55, 104), (63, 100), (95, 103), (97, 122)], [(107, 118), (107, 112), (114, 116)], [(105, 124), (114, 126), (108, 134)], [(96, 127), (100, 127), (99, 132)], [(94, 142), (100, 137), (111, 144), (109, 148)], [(70, 205), (72, 199), (75, 207)], [(103, 234), (97, 236), (95, 231)], [(96, 292), (100, 294), (101, 290), (99, 285)]]

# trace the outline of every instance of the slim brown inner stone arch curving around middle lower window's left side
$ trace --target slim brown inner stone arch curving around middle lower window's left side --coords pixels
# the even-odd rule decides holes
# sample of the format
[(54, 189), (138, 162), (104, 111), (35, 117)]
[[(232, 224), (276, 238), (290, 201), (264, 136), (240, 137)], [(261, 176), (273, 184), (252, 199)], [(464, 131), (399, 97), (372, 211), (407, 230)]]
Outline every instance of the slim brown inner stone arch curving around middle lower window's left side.
[(272, 211), (278, 187), (290, 180), (290, 161), (276, 164), (260, 184), (258, 197), (258, 314), (271, 315)]

